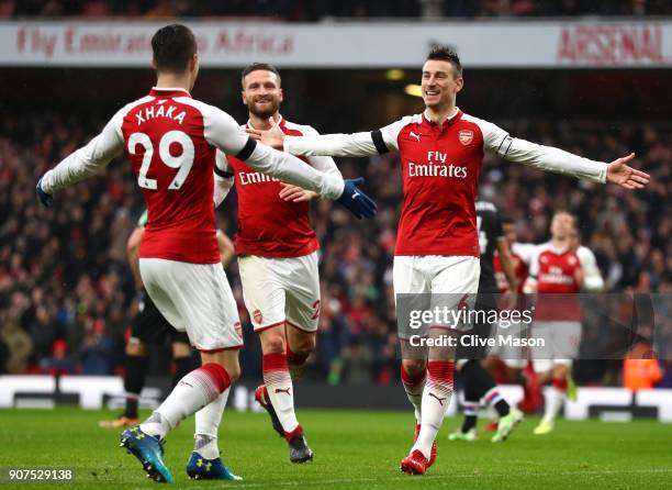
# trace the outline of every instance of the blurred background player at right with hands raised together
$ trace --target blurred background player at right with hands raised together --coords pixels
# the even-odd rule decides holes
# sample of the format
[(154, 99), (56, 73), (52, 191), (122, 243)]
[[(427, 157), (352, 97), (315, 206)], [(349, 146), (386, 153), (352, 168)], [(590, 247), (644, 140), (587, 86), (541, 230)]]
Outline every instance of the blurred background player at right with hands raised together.
[(525, 292), (540, 294), (533, 336), (547, 341), (545, 347), (533, 348), (533, 365), (541, 383), (551, 382), (544, 417), (534, 430), (537, 435), (553, 430), (568, 398), (568, 388), (573, 385), (571, 367), (581, 341), (581, 304), (571, 296), (582, 288), (587, 291), (604, 288), (595, 256), (586, 247), (579, 246), (578, 233), (575, 216), (564, 210), (556, 211), (551, 240), (537, 248), (525, 283)]

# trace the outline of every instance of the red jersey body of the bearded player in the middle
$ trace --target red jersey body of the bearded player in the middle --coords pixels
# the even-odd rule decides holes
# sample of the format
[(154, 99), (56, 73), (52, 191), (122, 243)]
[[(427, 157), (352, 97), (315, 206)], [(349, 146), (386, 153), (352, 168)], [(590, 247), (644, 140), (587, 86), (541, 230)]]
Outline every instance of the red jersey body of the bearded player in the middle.
[[(284, 119), (279, 121), (279, 125), (290, 136), (316, 133), (310, 126), (293, 124)], [(331, 157), (312, 157), (316, 158), (331, 160)], [(301, 159), (310, 165), (309, 158)], [(235, 174), (238, 194), (238, 232), (234, 238), (238, 255), (290, 258), (302, 257), (320, 248), (311, 227), (307, 202), (280, 199), (282, 187), (279, 179), (256, 171), (235, 157), (227, 156), (227, 160)]]

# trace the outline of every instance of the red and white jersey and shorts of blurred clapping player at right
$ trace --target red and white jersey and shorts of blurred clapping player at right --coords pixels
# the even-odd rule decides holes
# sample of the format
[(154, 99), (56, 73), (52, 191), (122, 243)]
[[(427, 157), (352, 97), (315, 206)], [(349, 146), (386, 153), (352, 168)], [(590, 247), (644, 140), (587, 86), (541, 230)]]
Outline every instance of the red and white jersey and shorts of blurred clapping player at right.
[(575, 294), (582, 287), (586, 290), (603, 287), (595, 256), (583, 246), (578, 250), (560, 249), (549, 242), (537, 248), (529, 276), (536, 278), (539, 294), (533, 336), (546, 339), (544, 346), (533, 347), (535, 370), (544, 372), (553, 364), (571, 366), (581, 343), (581, 302)]

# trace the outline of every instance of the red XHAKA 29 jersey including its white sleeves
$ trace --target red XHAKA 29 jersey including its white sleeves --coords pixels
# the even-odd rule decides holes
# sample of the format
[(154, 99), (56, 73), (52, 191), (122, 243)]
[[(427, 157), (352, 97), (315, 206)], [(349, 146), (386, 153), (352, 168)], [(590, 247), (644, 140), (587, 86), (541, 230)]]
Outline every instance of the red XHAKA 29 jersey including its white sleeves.
[[(181, 88), (154, 88), (119, 110), (102, 132), (64, 158), (41, 179), (54, 192), (100, 171), (126, 149), (147, 203), (141, 258), (216, 264), (215, 179), (225, 192), (225, 159), (236, 155), (250, 167), (337, 199), (344, 181), (296, 157), (257, 144), (224, 111), (193, 100)], [(215, 170), (216, 169), (216, 170)], [(217, 201), (220, 202), (220, 201)]]

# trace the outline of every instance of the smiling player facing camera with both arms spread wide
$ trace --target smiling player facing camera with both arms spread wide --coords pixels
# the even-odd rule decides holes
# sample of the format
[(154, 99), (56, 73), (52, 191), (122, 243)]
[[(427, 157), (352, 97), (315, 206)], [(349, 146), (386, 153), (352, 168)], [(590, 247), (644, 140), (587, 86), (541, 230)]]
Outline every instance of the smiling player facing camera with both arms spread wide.
[[(629, 167), (635, 155), (611, 164), (514, 138), (496, 125), (456, 107), (463, 87), (455, 52), (432, 49), (422, 74), (426, 110), (385, 127), (355, 134), (287, 136), (277, 126), (247, 130), (294, 155), (367, 156), (399, 151), (404, 204), (399, 224), (393, 283), (400, 293), (471, 294), (479, 282), (475, 194), (483, 153), (548, 171), (626, 189), (642, 188), (649, 176)], [(436, 335), (438, 328), (432, 328)], [(402, 353), (404, 356), (404, 353)], [(428, 359), (428, 360), (427, 360)], [(435, 437), (452, 394), (455, 353), (430, 347), (424, 359), (405, 357), (402, 379), (419, 424), (402, 471), (422, 475), (434, 463)]]

